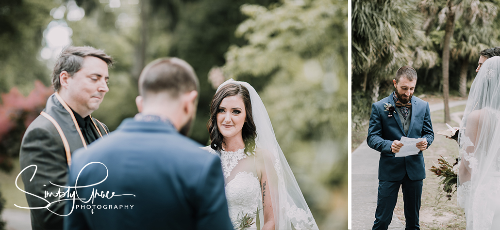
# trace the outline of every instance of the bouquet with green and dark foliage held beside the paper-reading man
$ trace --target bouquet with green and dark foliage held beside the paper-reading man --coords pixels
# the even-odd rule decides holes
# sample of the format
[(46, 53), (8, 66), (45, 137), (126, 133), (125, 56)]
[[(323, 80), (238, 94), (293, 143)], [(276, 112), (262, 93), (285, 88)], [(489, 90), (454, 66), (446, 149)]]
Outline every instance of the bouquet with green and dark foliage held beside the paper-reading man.
[[(440, 156), (440, 155), (439, 155)], [(434, 173), (437, 177), (442, 177), (439, 182), (439, 186), (443, 185), (442, 190), (446, 193), (448, 201), (451, 200), (451, 196), (456, 192), (456, 182), (458, 178), (458, 158), (454, 158), (455, 162), (453, 164), (448, 162), (447, 157), (440, 156), (437, 159), (437, 167), (430, 167), (429, 171)], [(435, 165), (435, 163), (434, 163)]]

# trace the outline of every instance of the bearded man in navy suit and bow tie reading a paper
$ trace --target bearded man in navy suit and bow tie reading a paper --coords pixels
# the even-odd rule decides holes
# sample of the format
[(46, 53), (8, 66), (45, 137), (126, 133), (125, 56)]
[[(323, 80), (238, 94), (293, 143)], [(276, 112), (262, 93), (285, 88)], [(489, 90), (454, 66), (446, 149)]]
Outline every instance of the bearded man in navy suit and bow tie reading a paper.
[[(378, 195), (373, 230), (386, 230), (392, 220), (399, 187), (402, 188), (406, 230), (419, 230), (418, 216), (425, 167), (422, 151), (434, 140), (427, 102), (413, 97), (416, 71), (403, 66), (392, 80), (396, 90), (371, 106), (366, 141), (380, 152), (378, 162)], [(415, 143), (406, 138), (422, 138), (414, 144), (416, 151), (397, 156), (404, 144)], [(410, 148), (411, 149), (411, 148)], [(414, 148), (413, 148), (414, 149)]]

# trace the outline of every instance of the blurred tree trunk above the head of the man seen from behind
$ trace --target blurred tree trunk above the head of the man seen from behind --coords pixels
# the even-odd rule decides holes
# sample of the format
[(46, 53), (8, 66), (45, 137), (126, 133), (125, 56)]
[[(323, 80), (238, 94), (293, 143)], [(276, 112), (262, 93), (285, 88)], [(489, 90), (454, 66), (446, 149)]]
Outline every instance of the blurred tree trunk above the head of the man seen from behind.
[(139, 42), (135, 46), (135, 61), (132, 65), (132, 76), (138, 80), (146, 61), (146, 48), (149, 32), (150, 0), (141, 0)]

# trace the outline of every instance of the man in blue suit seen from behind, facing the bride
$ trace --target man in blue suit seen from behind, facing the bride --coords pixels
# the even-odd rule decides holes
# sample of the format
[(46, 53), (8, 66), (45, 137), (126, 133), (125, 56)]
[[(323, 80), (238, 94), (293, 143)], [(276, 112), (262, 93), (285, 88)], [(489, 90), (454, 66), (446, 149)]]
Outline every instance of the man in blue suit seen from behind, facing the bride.
[(196, 112), (194, 70), (157, 59), (138, 85), (139, 114), (74, 154), (69, 185), (92, 186), (76, 190), (87, 200), (66, 203), (64, 229), (232, 230), (220, 159), (184, 136)]

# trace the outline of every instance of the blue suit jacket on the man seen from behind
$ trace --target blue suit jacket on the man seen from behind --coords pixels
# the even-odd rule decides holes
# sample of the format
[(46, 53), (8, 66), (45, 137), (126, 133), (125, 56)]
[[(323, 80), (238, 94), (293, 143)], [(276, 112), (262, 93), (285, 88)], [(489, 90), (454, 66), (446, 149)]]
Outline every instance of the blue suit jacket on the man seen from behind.
[[(64, 229), (232, 230), (220, 159), (199, 147), (171, 124), (125, 119), (109, 137), (77, 151), (69, 175), (74, 186), (81, 171), (77, 186), (82, 186), (98, 183), (107, 174), (102, 183), (77, 189), (85, 201), (92, 189), (115, 196), (75, 202)], [(91, 162), (103, 165), (93, 163), (82, 170)], [(122, 194), (134, 196), (116, 196)], [(66, 213), (71, 208), (72, 203), (66, 203)]]

